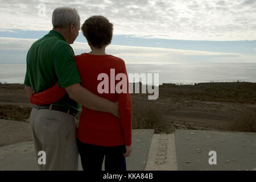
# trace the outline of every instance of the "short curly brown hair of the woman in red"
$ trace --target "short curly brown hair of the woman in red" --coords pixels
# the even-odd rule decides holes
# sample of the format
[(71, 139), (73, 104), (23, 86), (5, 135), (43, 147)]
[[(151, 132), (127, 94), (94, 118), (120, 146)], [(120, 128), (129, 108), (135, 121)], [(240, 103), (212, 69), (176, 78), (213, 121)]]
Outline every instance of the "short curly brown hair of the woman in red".
[(82, 24), (81, 29), (88, 43), (95, 48), (108, 46), (111, 43), (113, 24), (104, 16), (90, 16)]

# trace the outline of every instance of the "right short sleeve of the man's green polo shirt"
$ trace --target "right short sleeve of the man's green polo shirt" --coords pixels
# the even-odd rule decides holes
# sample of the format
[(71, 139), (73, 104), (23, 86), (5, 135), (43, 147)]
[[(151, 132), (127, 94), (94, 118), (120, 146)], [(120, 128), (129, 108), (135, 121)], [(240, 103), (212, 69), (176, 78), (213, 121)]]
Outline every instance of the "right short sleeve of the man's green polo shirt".
[(55, 72), (62, 88), (81, 82), (74, 57), (73, 49), (69, 45), (61, 46), (54, 53)]

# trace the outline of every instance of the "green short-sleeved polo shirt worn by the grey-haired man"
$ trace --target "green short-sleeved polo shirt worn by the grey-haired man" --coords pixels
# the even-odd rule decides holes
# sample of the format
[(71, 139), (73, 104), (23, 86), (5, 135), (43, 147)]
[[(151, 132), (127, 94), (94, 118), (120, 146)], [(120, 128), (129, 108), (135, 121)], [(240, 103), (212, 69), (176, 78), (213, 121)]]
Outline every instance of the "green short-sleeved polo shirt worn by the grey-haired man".
[[(56, 82), (64, 88), (81, 82), (81, 78), (72, 47), (65, 42), (63, 35), (51, 30), (28, 50), (24, 84), (39, 93), (51, 88)], [(71, 100), (68, 94), (55, 105), (81, 110), (81, 106)]]

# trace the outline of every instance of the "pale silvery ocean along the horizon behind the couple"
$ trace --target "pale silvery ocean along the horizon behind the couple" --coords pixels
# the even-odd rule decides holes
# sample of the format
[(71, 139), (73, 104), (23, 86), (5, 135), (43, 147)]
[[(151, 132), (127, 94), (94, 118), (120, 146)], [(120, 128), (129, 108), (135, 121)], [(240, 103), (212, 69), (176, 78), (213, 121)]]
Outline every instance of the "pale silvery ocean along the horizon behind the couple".
[[(256, 63), (127, 63), (126, 69), (127, 73), (159, 73), (159, 84), (256, 82)], [(26, 64), (0, 64), (2, 83), (21, 84), (25, 74)]]

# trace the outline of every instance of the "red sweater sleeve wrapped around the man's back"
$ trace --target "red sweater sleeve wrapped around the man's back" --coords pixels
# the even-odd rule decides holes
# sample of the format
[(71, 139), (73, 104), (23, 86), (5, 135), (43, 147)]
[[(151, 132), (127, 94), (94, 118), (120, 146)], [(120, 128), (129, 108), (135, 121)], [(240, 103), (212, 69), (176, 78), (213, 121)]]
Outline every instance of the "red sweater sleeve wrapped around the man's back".
[(58, 86), (58, 82), (51, 88), (39, 93), (30, 95), (30, 102), (36, 105), (53, 104), (59, 101), (65, 94), (66, 90)]

